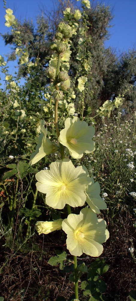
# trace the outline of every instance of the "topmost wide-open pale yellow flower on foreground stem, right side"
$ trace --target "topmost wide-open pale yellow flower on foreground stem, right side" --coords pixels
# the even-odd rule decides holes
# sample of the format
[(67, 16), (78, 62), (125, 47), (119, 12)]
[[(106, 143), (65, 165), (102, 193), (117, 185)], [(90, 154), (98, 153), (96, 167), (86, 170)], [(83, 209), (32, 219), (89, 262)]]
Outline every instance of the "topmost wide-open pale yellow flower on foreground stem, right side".
[(95, 129), (78, 117), (67, 118), (65, 128), (61, 130), (58, 141), (69, 149), (72, 158), (80, 159), (83, 153), (89, 154), (95, 150), (92, 141)]

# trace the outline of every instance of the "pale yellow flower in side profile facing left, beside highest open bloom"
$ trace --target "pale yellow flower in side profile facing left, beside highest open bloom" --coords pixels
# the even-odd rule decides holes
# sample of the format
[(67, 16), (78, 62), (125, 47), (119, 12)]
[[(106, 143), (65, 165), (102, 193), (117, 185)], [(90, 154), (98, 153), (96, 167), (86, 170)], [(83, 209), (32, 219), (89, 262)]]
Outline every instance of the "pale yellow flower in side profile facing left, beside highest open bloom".
[(40, 128), (41, 128), (41, 134), (38, 139), (38, 144), (36, 146), (36, 150), (33, 154), (30, 156), (30, 162), (29, 164), (35, 164), (43, 157), (55, 153), (58, 149), (58, 146), (55, 143), (52, 143), (47, 137), (47, 129), (44, 127), (45, 120), (41, 120)]

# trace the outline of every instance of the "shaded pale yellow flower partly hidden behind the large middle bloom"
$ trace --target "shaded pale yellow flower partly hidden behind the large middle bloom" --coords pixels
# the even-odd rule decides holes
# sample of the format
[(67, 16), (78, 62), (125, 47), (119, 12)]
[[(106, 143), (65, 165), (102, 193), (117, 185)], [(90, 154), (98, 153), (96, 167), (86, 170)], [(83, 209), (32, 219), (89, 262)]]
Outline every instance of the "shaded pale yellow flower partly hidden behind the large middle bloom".
[(100, 213), (99, 209), (107, 208), (105, 201), (100, 197), (100, 192), (100, 185), (98, 182), (94, 182), (92, 176), (91, 183), (88, 185), (85, 193), (87, 195), (86, 202), (95, 213)]

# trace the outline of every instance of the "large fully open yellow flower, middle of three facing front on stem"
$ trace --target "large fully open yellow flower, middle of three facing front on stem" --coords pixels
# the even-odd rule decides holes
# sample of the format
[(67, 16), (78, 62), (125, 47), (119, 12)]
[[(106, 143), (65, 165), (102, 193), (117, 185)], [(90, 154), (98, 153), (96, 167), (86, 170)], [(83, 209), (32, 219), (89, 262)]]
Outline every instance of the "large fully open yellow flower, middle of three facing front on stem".
[(37, 190), (46, 194), (46, 204), (54, 209), (83, 206), (86, 201), (85, 189), (90, 177), (85, 166), (75, 166), (69, 159), (56, 160), (50, 170), (41, 170), (35, 175)]

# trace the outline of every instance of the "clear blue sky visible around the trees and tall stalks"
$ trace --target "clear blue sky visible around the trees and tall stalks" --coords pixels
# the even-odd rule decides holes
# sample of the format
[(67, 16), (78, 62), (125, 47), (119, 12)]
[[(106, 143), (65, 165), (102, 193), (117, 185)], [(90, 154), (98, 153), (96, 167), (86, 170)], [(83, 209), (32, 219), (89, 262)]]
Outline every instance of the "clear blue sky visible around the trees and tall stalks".
[[(91, 3), (92, 1), (90, 1)], [(97, 3), (97, 0), (93, 1)], [(77, 2), (79, 4), (80, 1)], [(106, 48), (111, 46), (119, 55), (122, 51), (129, 48), (136, 48), (136, 0), (101, 0), (100, 4), (110, 5), (114, 18), (111, 21), (113, 27), (109, 29), (111, 37), (105, 42)], [(24, 19), (33, 20), (36, 23), (36, 17), (41, 14), (41, 8), (44, 6), (50, 11), (53, 8), (53, 0), (7, 0), (7, 8), (13, 9), (15, 17), (23, 22)], [(1, 20), (0, 33), (10, 31), (5, 25), (5, 9), (3, 1), (0, 4)], [(10, 53), (10, 47), (4, 46), (4, 41), (0, 37), (0, 54), (4, 56)], [(6, 57), (5, 57), (6, 59)], [(13, 74), (15, 62), (9, 62), (10, 74)]]

